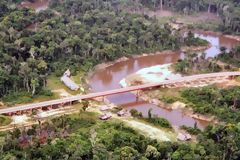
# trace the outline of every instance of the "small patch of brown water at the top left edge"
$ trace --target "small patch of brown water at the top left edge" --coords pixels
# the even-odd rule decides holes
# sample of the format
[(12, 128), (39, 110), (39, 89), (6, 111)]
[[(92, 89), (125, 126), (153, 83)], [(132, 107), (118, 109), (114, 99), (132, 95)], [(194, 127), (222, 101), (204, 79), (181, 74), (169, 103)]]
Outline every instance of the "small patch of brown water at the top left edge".
[(28, 0), (25, 0), (21, 3), (22, 7), (25, 8), (32, 8), (34, 9), (36, 12), (39, 12), (41, 10), (45, 10), (48, 8), (48, 4), (49, 4), (49, 0), (35, 0), (34, 3), (31, 3)]

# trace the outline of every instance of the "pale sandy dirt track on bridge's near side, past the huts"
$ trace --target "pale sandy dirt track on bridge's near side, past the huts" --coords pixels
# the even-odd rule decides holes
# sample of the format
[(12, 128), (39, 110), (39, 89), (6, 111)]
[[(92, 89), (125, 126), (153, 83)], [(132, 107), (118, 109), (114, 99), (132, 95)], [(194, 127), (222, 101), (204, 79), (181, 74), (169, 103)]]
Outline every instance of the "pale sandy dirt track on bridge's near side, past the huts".
[[(6, 126), (0, 126), (0, 132), (14, 130), (15, 128), (24, 129), (24, 130), (29, 129), (32, 127), (32, 125), (39, 124), (39, 122), (41, 122), (41, 124), (44, 124), (45, 122), (48, 122), (51, 119), (54, 119), (63, 115), (71, 116), (72, 114), (81, 114), (82, 112), (102, 115), (105, 112), (107, 112), (107, 111), (101, 111), (101, 107), (105, 104), (111, 105), (113, 108), (117, 107), (116, 105), (111, 104), (108, 101), (105, 101), (103, 103), (101, 100), (100, 101), (98, 100), (98, 101), (91, 101), (86, 111), (83, 111), (80, 107), (80, 104), (77, 104), (73, 106), (66, 106), (60, 109), (53, 109), (51, 111), (43, 111), (38, 115), (39, 118), (33, 118), (32, 116), (27, 116), (27, 115), (13, 116), (12, 117), (13, 121), (11, 124)], [(112, 119), (108, 121), (109, 122), (117, 121), (118, 123), (124, 122), (124, 125), (133, 128), (138, 133), (143, 134), (151, 139), (156, 139), (158, 141), (177, 141), (176, 137), (178, 132), (175, 133), (175, 131), (170, 131), (160, 127), (155, 127), (151, 124), (144, 123), (140, 120), (134, 119), (131, 116), (119, 117), (117, 116), (116, 113), (112, 112)]]

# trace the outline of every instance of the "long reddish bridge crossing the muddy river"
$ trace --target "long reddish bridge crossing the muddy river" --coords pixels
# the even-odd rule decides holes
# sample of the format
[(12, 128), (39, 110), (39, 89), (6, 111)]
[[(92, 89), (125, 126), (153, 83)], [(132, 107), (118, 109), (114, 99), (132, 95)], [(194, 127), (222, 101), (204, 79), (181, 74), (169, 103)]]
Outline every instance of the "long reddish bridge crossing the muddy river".
[(71, 96), (68, 98), (62, 98), (62, 99), (56, 99), (56, 100), (50, 100), (50, 101), (44, 101), (39, 103), (32, 103), (32, 104), (26, 104), (16, 107), (9, 107), (0, 109), (0, 114), (15, 114), (15, 113), (21, 113), (23, 111), (32, 111), (34, 109), (41, 109), (43, 107), (51, 107), (54, 105), (63, 105), (66, 103), (72, 103), (79, 100), (87, 100), (87, 99), (93, 99), (97, 97), (105, 97), (109, 95), (114, 94), (120, 94), (120, 93), (126, 93), (126, 92), (132, 92), (132, 91), (139, 91), (139, 90), (145, 90), (145, 89), (152, 89), (155, 87), (179, 87), (179, 85), (182, 84), (191, 84), (194, 82), (212, 82), (217, 83), (217, 81), (221, 80), (228, 80), (229, 78), (234, 78), (236, 76), (240, 76), (240, 72), (219, 72), (219, 73), (209, 73), (209, 74), (199, 74), (199, 75), (193, 75), (193, 76), (186, 76), (181, 77), (179, 79), (175, 80), (165, 80), (159, 83), (149, 83), (149, 84), (143, 84), (143, 85), (137, 85), (137, 86), (131, 86), (126, 88), (119, 88), (114, 89), (110, 91), (103, 91), (98, 93), (89, 93), (87, 95), (76, 95)]

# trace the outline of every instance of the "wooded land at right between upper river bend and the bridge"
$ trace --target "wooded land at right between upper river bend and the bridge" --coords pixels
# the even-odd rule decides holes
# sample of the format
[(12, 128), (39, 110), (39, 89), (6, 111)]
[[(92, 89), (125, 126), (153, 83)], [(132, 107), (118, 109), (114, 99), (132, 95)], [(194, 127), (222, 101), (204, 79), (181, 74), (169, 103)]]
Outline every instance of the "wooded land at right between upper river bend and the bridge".
[[(188, 53), (186, 58), (173, 65), (173, 69), (187, 75), (238, 70), (240, 46), (236, 46), (230, 51), (227, 51), (225, 47), (221, 47), (220, 50), (220, 54), (211, 59), (206, 58), (206, 53)], [(223, 62), (223, 66), (220, 66), (218, 61)]]

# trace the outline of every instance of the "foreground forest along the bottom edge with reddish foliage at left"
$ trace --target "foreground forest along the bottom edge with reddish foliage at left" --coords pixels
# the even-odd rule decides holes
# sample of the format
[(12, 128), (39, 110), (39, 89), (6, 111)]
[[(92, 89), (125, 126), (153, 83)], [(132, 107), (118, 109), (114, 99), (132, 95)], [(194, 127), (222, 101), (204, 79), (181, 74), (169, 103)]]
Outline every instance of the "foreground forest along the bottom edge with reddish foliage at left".
[[(240, 125), (206, 128), (198, 143), (158, 142), (120, 122), (83, 112), (2, 133), (0, 158), (42, 160), (238, 159)], [(8, 135), (8, 136), (6, 136)]]

